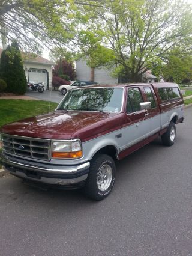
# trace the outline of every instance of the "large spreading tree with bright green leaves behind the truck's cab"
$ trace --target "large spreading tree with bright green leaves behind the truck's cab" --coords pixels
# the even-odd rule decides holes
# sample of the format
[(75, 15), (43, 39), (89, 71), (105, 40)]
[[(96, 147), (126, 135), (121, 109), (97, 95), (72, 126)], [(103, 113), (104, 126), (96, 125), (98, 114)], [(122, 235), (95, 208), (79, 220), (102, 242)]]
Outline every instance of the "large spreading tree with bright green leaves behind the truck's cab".
[(85, 18), (84, 26), (77, 26), (76, 42), (92, 67), (116, 64), (116, 73), (137, 82), (174, 47), (191, 53), (191, 5), (184, 1), (84, 1), (78, 11)]

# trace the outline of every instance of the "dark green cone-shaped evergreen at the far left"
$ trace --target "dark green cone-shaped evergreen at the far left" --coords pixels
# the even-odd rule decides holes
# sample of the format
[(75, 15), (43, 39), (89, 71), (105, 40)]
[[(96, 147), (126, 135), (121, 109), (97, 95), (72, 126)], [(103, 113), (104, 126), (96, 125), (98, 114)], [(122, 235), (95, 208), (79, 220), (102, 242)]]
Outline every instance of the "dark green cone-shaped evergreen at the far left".
[(1, 54), (1, 78), (7, 83), (6, 91), (15, 94), (25, 94), (26, 77), (23, 70), (22, 57), (19, 46), (14, 41)]

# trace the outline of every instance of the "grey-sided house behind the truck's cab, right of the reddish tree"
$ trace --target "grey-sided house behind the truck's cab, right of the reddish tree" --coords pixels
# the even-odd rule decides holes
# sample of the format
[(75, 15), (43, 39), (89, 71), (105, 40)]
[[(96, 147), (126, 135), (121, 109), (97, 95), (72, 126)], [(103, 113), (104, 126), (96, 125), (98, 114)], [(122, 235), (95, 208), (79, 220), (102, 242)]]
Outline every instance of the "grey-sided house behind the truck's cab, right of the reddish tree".
[(112, 78), (111, 70), (91, 68), (86, 65), (86, 59), (76, 61), (76, 78), (80, 81), (94, 81), (99, 84), (116, 84), (118, 79)]

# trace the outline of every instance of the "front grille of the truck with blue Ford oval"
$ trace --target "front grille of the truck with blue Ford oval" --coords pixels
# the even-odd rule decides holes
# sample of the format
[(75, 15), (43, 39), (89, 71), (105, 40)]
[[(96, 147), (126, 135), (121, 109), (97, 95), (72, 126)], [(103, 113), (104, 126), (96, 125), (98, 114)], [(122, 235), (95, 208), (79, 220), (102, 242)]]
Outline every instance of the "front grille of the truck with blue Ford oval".
[(34, 159), (50, 160), (50, 139), (2, 134), (2, 144), (7, 153)]

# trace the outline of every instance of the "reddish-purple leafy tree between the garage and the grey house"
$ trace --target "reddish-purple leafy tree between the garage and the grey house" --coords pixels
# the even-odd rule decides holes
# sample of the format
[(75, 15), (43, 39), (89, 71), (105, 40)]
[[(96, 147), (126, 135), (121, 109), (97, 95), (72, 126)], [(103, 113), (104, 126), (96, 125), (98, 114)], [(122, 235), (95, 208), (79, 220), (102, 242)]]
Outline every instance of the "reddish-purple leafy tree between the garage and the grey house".
[(72, 62), (68, 62), (65, 59), (59, 60), (55, 67), (53, 67), (53, 76), (59, 76), (63, 79), (74, 80), (75, 70)]

